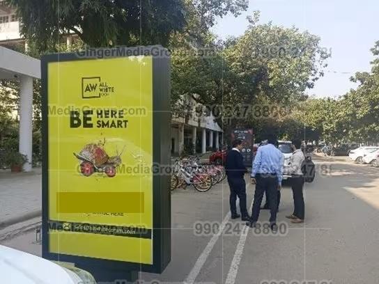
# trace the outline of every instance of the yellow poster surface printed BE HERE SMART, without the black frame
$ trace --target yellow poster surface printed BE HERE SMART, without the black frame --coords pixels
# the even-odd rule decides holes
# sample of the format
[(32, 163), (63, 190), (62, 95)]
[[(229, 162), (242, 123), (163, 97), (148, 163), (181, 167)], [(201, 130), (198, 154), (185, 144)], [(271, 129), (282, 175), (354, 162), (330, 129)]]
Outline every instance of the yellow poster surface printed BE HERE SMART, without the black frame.
[[(153, 164), (151, 56), (49, 63), (47, 77), (49, 220), (153, 230), (153, 173), (146, 171)], [(94, 212), (88, 200), (57, 200), (77, 193), (121, 196), (104, 198)], [(144, 197), (132, 205), (132, 193)], [(79, 211), (80, 203), (82, 213), (66, 210)], [(72, 232), (54, 235), (49, 244), (63, 254), (120, 259), (126, 253), (122, 258), (130, 262), (139, 263), (140, 255), (143, 263), (153, 260), (153, 239)]]

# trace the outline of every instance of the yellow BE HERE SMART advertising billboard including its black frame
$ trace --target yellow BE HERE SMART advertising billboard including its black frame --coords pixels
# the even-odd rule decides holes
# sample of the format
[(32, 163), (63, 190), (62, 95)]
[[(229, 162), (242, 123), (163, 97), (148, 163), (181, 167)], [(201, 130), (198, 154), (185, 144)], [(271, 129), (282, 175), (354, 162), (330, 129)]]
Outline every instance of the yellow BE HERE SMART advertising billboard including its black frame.
[(42, 84), (44, 257), (162, 271), (169, 185), (153, 165), (169, 165), (168, 58), (48, 55)]

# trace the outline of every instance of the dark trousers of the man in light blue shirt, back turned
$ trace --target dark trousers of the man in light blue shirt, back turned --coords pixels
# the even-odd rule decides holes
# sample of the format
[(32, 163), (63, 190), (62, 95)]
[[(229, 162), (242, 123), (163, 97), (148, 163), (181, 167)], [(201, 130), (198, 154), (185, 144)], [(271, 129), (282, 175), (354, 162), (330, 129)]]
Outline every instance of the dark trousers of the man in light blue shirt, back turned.
[(270, 223), (277, 221), (278, 207), (278, 178), (277, 175), (256, 175), (256, 187), (254, 193), (254, 203), (252, 212), (252, 222), (258, 221), (259, 212), (261, 211), (261, 203), (263, 194), (268, 198), (270, 205)]

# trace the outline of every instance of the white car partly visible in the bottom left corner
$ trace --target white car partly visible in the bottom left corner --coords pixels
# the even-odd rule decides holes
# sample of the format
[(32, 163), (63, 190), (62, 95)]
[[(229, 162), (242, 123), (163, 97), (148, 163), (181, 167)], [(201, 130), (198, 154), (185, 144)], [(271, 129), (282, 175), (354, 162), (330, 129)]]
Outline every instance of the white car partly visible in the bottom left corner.
[(0, 246), (0, 274), (6, 284), (95, 284), (87, 271), (7, 246)]

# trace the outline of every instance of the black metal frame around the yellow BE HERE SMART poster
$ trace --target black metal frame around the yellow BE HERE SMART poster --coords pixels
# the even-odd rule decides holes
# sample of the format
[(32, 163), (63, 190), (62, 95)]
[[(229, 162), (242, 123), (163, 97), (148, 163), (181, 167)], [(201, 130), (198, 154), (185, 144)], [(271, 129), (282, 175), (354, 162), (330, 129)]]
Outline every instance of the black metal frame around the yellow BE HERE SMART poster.
[[(118, 49), (118, 50), (117, 50)], [(120, 49), (124, 49), (121, 51)], [(91, 271), (109, 272), (146, 271), (162, 273), (171, 260), (171, 195), (169, 175), (153, 174), (153, 265), (117, 260), (88, 258), (77, 255), (65, 255), (49, 252), (49, 132), (48, 132), (48, 65), (53, 62), (96, 60), (96, 54), (102, 59), (132, 54), (133, 56), (152, 56), (153, 58), (153, 164), (169, 165), (170, 150), (170, 58), (167, 49), (161, 46), (117, 47), (114, 49), (92, 49), (93, 56), (81, 56), (79, 53), (47, 54), (41, 59), (42, 77), (42, 257), (49, 260), (75, 263), (77, 267)], [(112, 52), (113, 50), (113, 52)], [(99, 53), (96, 53), (98, 51)], [(108, 55), (107, 55), (108, 54)], [(116, 54), (116, 55), (114, 55)], [(115, 248), (119, 249), (119, 248)], [(105, 273), (107, 274), (107, 273)], [(125, 274), (126, 275), (126, 274)]]

